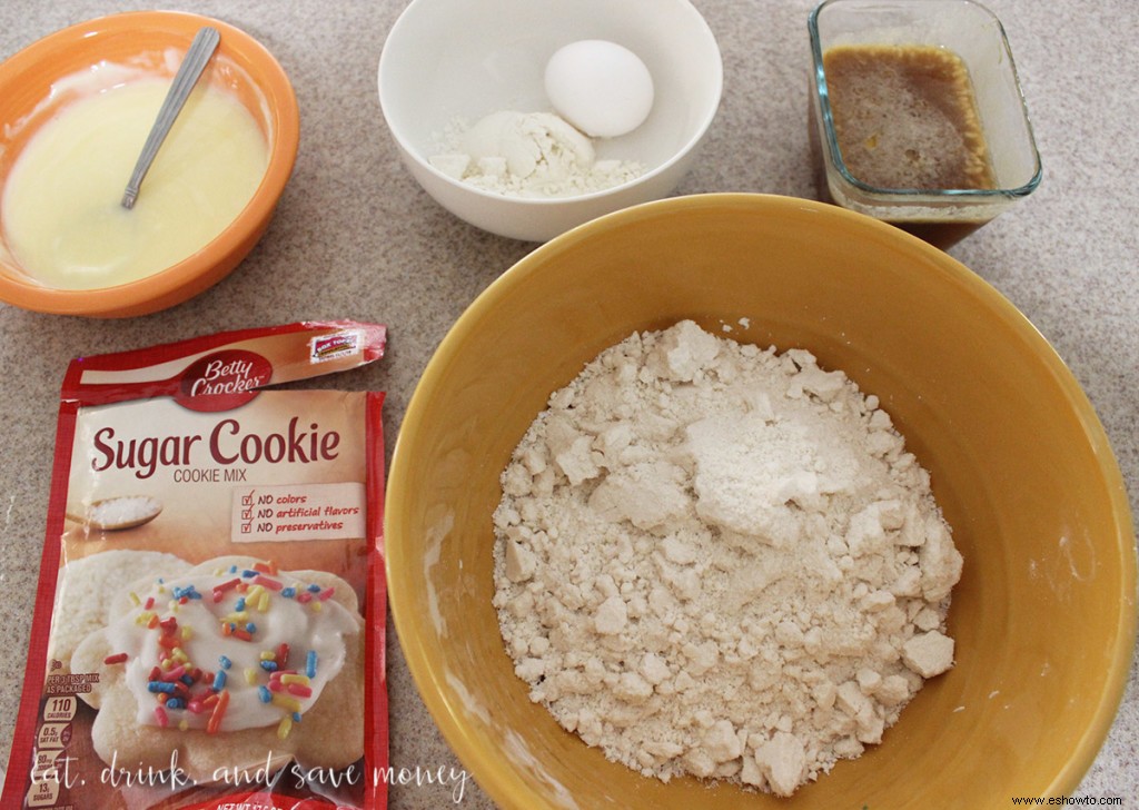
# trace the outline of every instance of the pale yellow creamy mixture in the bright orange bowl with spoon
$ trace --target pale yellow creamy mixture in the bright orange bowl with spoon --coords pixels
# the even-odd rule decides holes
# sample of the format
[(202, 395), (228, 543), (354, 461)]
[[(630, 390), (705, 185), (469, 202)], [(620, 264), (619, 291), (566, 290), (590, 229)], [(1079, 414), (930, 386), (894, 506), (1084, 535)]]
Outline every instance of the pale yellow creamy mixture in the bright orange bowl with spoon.
[(205, 247), (248, 204), (268, 166), (265, 137), (236, 96), (202, 84), (134, 208), (120, 205), (169, 87), (138, 79), (87, 93), (28, 139), (2, 199), (5, 242), (28, 277), (62, 289), (126, 284)]

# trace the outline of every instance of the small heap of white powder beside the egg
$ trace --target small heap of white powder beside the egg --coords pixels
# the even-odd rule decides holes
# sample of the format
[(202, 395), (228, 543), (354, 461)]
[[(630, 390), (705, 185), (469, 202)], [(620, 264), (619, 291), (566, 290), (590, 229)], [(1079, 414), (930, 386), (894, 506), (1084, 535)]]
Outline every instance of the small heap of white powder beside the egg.
[(621, 186), (645, 173), (634, 161), (597, 159), (593, 142), (554, 113), (492, 113), (452, 121), (428, 162), (494, 194), (571, 197)]

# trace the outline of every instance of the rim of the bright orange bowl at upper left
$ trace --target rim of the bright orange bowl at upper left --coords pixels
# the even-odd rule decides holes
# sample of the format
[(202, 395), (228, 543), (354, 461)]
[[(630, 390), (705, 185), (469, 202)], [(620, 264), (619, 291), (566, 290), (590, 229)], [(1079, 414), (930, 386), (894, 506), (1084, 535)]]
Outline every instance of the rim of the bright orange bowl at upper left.
[[(211, 242), (164, 270), (126, 284), (92, 289), (47, 287), (32, 279), (25, 281), (7, 272), (0, 272), (0, 301), (32, 311), (96, 317), (164, 309), (187, 297), (179, 295), (180, 291), (190, 289), (192, 291), (190, 294), (196, 294), (221, 280), (228, 271), (211, 271), (240, 251), (251, 232), (259, 231), (268, 222), (296, 162), (300, 147), (300, 108), (285, 68), (261, 42), (241, 28), (191, 11), (118, 11), (93, 17), (47, 34), (9, 56), (0, 63), (0, 87), (34, 69), (60, 47), (82, 42), (95, 35), (114, 35), (145, 27), (161, 27), (170, 33), (186, 33), (189, 44), (197, 28), (205, 25), (221, 32), (222, 47), (230, 50), (230, 57), (243, 68), (249, 64), (263, 68), (259, 69), (259, 73), (264, 74), (264, 82), (259, 81), (259, 87), (265, 97), (267, 115), (273, 138), (269, 145), (265, 173), (249, 202)], [(195, 287), (195, 281), (202, 283), (200, 288)], [(159, 305), (148, 308), (147, 304), (150, 302)]]

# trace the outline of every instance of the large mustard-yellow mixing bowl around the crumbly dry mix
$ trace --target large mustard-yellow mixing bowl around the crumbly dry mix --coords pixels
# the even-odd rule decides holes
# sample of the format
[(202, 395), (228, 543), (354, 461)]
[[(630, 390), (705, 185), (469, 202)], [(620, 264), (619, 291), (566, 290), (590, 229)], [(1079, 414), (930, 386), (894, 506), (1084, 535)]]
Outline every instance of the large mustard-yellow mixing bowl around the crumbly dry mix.
[[(804, 347), (880, 398), (965, 557), (956, 666), (860, 759), (793, 799), (669, 784), (606, 760), (527, 698), (494, 594), (499, 476), (550, 393), (633, 330), (691, 318)], [(747, 319), (741, 324), (741, 319)], [(804, 199), (648, 203), (522, 259), (459, 318), (400, 427), (390, 598), (444, 736), (505, 808), (1006, 808), (1076, 788), (1123, 694), (1136, 545), (1104, 429), (1007, 300), (901, 230)]]

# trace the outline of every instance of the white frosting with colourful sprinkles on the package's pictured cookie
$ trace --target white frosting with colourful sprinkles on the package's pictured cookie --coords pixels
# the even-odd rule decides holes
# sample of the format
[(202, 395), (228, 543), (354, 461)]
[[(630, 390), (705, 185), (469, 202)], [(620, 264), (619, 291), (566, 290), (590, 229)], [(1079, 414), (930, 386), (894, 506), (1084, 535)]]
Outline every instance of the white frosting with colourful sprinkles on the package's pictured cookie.
[(334, 588), (272, 562), (159, 579), (151, 590), (130, 594), (128, 621), (108, 628), (121, 652), (104, 664), (125, 668), (140, 721), (159, 728), (276, 726), (285, 739), (343, 664), (343, 636), (359, 629), (338, 603), (325, 609)]

